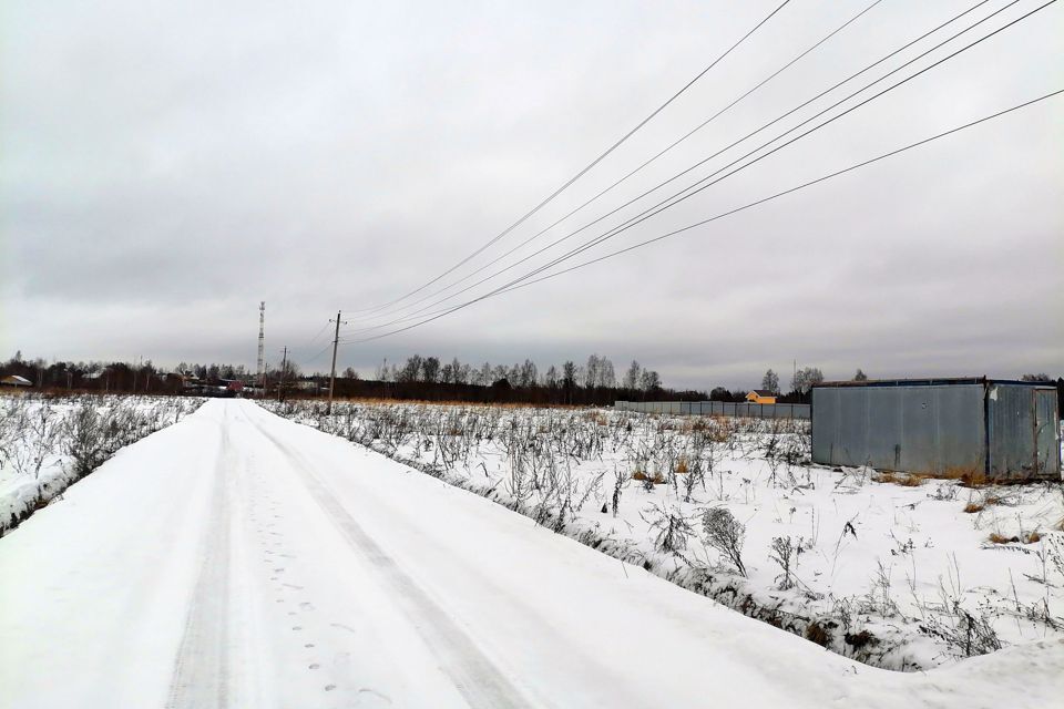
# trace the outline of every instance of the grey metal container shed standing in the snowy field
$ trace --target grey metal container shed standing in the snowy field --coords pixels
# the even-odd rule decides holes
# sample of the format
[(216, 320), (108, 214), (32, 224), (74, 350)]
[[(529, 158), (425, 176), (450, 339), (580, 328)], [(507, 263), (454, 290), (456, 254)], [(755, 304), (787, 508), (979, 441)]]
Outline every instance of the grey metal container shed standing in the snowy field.
[(827, 382), (812, 390), (812, 460), (1057, 480), (1056, 389), (985, 377)]

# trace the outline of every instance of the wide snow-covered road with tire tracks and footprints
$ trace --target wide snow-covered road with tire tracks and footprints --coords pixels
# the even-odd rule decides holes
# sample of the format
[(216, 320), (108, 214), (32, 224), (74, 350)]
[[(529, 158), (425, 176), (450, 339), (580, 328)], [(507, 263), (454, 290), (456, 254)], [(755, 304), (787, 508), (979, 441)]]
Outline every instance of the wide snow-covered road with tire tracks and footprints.
[(1064, 645), (859, 665), (248, 401), (0, 538), (2, 707), (1053, 706)]

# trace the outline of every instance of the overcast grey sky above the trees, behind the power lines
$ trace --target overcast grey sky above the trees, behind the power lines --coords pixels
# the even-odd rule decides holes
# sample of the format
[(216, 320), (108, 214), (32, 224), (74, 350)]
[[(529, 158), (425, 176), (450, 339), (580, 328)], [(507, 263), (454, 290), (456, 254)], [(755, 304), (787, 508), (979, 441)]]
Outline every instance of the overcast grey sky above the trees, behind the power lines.
[[(869, 2), (792, 0), (561, 197), (399, 305), (549, 226)], [(495, 268), (974, 2), (883, 0)], [(0, 358), (21, 349), (50, 360), (143, 356), (164, 366), (254, 368), (265, 300), (267, 359), (288, 346), (304, 370), (326, 370), (323, 328), (337, 309), (352, 312), (345, 337), (358, 340), (393, 328), (355, 330), (453, 294), (377, 319), (354, 312), (413, 290), (505, 229), (778, 3), (7, 0)], [(1006, 3), (989, 0), (932, 39)], [(894, 81), (1039, 4), (1020, 0)], [(1064, 88), (1062, 6), (584, 257)], [(602, 234), (832, 102), (505, 275)], [(786, 384), (795, 360), (828, 378), (857, 367), (872, 377), (1064, 374), (1062, 119), (1064, 96), (407, 332), (345, 342), (339, 363), (370, 374), (385, 357), (420, 352), (477, 362), (531, 357), (545, 368), (598, 352), (618, 371), (636, 358), (667, 384), (699, 389), (755, 386), (768, 367), (785, 372)]]

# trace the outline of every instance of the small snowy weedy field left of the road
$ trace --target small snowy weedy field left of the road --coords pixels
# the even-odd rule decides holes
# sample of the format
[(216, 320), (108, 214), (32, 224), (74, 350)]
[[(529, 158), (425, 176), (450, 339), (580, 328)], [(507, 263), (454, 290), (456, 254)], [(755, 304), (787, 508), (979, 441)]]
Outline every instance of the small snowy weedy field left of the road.
[(0, 395), (0, 534), (202, 399)]

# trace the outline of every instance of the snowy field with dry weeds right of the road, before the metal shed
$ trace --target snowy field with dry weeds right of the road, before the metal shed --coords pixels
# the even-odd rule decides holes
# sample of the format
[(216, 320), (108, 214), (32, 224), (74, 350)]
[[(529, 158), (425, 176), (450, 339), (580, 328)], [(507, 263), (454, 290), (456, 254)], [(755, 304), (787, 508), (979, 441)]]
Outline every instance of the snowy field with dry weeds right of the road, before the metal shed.
[(869, 665), (1064, 638), (1060, 483), (814, 466), (798, 421), (267, 405)]

